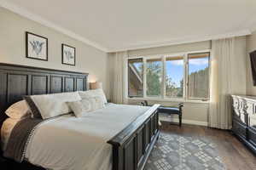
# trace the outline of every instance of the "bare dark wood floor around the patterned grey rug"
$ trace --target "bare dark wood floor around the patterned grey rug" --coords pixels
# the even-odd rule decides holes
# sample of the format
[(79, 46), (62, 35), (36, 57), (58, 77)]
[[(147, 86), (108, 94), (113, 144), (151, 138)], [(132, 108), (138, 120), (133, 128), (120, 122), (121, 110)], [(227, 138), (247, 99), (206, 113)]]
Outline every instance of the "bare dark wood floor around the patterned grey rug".
[(162, 122), (161, 131), (190, 136), (204, 136), (217, 144), (218, 154), (222, 157), (227, 170), (256, 170), (256, 156), (241, 144), (229, 131), (210, 127), (185, 125), (178, 127), (170, 122)]

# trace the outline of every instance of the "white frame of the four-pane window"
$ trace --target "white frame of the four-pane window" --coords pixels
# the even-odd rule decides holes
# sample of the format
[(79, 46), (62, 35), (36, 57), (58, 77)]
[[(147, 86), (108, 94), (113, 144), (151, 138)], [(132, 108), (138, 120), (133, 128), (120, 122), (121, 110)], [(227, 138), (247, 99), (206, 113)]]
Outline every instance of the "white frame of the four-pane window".
[[(148, 99), (148, 100), (160, 100), (160, 101), (202, 101), (202, 102), (208, 102), (210, 98), (189, 98), (189, 54), (198, 54), (198, 53), (209, 53), (209, 82), (211, 77), (211, 63), (212, 63), (212, 57), (211, 57), (211, 50), (205, 49), (200, 51), (189, 51), (189, 52), (183, 52), (183, 53), (173, 53), (173, 54), (154, 54), (154, 55), (138, 55), (138, 56), (131, 56), (127, 57), (125, 59), (126, 65), (128, 65), (129, 59), (143, 59), (143, 97), (130, 97), (128, 94), (128, 88), (125, 89), (126, 91), (126, 99)], [(166, 97), (166, 58), (170, 57), (177, 57), (177, 56), (183, 56), (183, 97)], [(153, 97), (147, 95), (147, 59), (161, 59), (162, 61), (162, 74), (161, 74), (161, 90), (160, 90), (160, 96)], [(125, 71), (125, 80), (127, 81), (126, 84), (129, 86), (129, 75), (128, 75), (128, 68)], [(210, 93), (210, 83), (209, 83), (209, 93)]]

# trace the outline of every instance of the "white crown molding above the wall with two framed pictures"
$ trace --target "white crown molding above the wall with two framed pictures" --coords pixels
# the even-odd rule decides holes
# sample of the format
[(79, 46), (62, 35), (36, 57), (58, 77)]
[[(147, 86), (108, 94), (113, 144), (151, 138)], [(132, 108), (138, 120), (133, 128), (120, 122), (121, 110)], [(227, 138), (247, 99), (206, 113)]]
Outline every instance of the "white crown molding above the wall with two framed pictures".
[(26, 17), (27, 19), (36, 21), (43, 26), (48, 26), (49, 28), (52, 28), (56, 31), (60, 31), (61, 33), (67, 35), (68, 37), (73, 37), (74, 39), (79, 40), (80, 42), (84, 42), (94, 48), (100, 49), (103, 52), (108, 52), (108, 48), (102, 47), (102, 45), (98, 44), (97, 42), (92, 42), (85, 37), (79, 36), (73, 31), (69, 31), (61, 26), (57, 26), (53, 22), (50, 22), (49, 20), (45, 20), (44, 18), (38, 16), (37, 14), (32, 14), (25, 8), (20, 8), (14, 3), (8, 2), (7, 0), (0, 0), (0, 7), (7, 8), (10, 11), (14, 12), (15, 14), (20, 14), (21, 16)]

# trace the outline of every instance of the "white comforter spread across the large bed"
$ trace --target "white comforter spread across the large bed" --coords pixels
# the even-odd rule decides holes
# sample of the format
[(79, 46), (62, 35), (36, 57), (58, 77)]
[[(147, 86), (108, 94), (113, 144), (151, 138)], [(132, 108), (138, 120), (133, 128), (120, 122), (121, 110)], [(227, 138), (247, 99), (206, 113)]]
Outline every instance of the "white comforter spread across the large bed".
[(59, 170), (111, 170), (115, 134), (148, 107), (108, 104), (89, 116), (67, 115), (39, 125), (26, 148), (32, 164)]

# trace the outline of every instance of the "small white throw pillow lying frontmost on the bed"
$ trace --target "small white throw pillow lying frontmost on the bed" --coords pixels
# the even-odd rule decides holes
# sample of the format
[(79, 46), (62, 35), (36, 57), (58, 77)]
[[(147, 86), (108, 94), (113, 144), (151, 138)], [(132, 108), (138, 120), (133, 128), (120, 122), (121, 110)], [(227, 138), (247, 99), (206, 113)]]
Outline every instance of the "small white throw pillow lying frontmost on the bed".
[(81, 117), (91, 111), (91, 105), (84, 105), (81, 101), (82, 100), (67, 102), (67, 105), (77, 117)]

